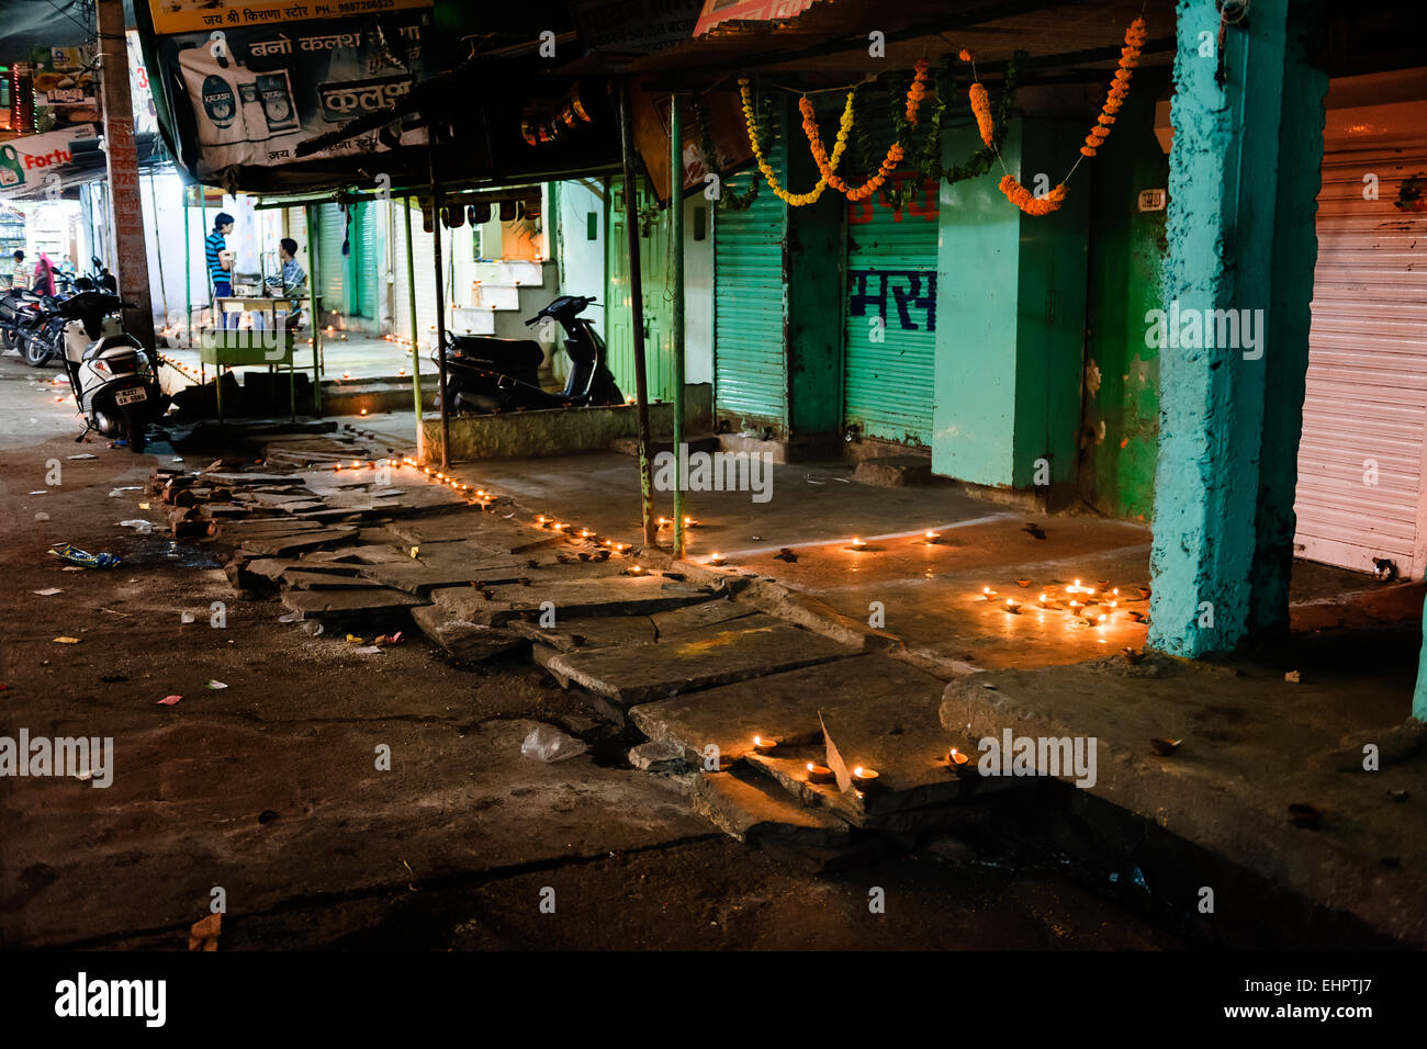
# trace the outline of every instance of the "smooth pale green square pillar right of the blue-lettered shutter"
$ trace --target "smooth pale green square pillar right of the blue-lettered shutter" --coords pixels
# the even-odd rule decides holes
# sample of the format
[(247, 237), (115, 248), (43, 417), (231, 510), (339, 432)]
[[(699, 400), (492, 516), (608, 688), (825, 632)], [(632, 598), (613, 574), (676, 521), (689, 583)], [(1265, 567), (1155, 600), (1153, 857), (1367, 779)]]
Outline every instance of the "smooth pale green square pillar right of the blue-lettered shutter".
[[(1059, 183), (1085, 128), (1016, 120), (1002, 160), (1027, 188)], [(950, 167), (980, 147), (948, 130)], [(1049, 216), (1026, 216), (989, 174), (940, 184), (932, 471), (973, 484), (1070, 485), (1085, 341), (1089, 173)]]

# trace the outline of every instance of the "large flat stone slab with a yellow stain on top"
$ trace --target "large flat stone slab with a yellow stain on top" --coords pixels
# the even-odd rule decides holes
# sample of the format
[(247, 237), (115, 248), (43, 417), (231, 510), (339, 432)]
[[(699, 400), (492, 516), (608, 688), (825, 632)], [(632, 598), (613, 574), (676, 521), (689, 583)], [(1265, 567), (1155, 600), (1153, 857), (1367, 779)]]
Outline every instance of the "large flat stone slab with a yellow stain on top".
[(589, 692), (629, 708), (848, 655), (853, 652), (823, 637), (768, 615), (749, 615), (689, 631), (674, 644), (561, 652), (549, 665)]

